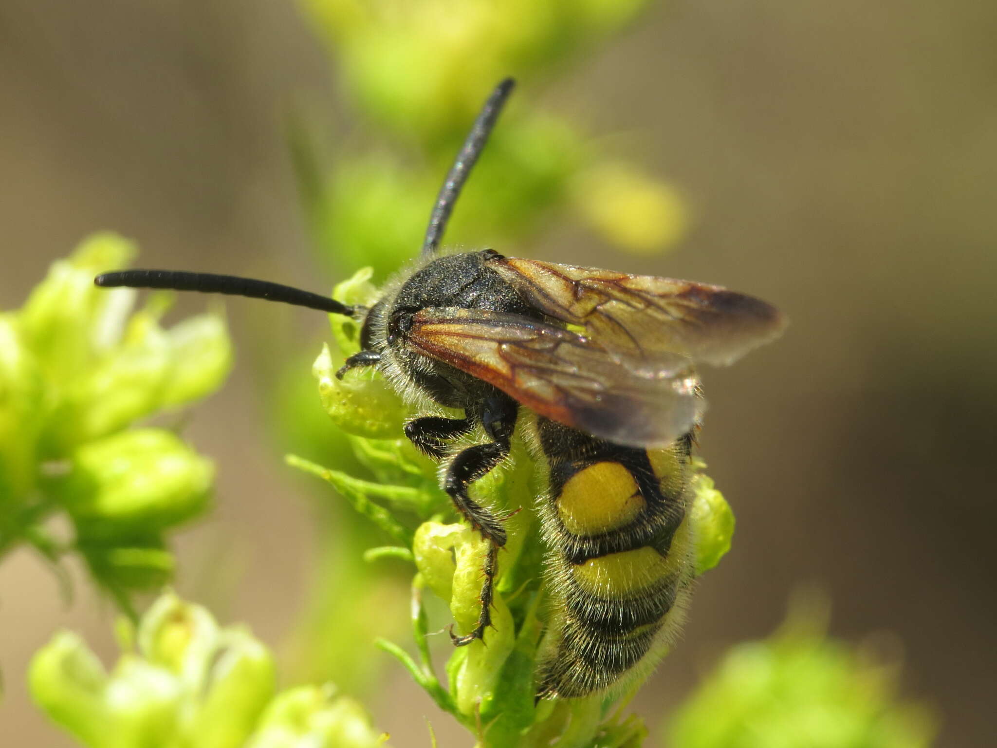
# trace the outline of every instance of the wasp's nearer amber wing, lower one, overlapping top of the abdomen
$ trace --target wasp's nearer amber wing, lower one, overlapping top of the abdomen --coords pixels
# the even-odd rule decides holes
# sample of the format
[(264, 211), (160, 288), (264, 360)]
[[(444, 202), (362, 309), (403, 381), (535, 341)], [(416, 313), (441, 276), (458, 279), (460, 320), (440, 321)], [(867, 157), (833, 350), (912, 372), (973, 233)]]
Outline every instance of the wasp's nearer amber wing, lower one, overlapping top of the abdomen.
[(422, 309), (407, 339), (536, 413), (617, 444), (666, 446), (705, 409), (688, 358), (672, 354), (650, 365), (519, 314)]

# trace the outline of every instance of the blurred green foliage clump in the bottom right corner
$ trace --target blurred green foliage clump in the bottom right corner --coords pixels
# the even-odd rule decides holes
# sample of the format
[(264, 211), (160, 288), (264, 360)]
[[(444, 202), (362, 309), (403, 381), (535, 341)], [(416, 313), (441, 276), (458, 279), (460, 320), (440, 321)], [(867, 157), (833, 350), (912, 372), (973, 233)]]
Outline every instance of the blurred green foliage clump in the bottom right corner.
[(897, 695), (899, 667), (828, 638), (798, 607), (763, 641), (739, 644), (672, 716), (669, 748), (921, 748), (931, 711)]

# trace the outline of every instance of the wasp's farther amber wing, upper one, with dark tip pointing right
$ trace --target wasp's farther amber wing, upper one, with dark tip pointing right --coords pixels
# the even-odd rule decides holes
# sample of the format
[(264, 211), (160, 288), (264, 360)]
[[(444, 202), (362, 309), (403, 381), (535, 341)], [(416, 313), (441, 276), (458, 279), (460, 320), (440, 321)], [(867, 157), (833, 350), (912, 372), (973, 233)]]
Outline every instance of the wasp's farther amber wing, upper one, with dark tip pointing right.
[(488, 267), (545, 314), (614, 354), (727, 365), (782, 334), (771, 304), (722, 286), (496, 255)]

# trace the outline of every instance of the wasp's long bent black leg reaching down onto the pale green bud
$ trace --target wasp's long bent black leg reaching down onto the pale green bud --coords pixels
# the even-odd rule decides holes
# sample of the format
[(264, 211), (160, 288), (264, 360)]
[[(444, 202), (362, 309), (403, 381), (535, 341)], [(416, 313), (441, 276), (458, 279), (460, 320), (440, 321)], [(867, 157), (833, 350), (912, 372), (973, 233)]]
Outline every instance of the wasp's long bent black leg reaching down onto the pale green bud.
[(451, 462), (444, 480), (444, 490), (450, 495), (454, 505), (471, 526), (489, 542), (488, 555), (482, 569), (485, 581), (482, 584), (482, 610), (478, 623), (471, 633), (451, 638), (456, 646), (470, 644), (485, 634), (492, 625), (492, 599), (495, 593), (495, 576), (498, 570), (498, 549), (505, 545), (505, 530), (501, 520), (468, 496), (468, 487), (484, 477), (508, 456), (509, 440), (515, 428), (518, 413), (515, 401), (504, 396), (490, 398), (483, 405), (481, 422), (485, 433), (495, 441), (479, 444), (464, 450)]

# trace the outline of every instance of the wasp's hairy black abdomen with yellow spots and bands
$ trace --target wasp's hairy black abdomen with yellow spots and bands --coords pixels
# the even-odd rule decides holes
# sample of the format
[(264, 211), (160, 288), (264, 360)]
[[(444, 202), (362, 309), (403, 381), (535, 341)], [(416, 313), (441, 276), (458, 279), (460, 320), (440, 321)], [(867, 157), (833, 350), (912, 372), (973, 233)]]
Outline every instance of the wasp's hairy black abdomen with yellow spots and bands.
[(653, 663), (689, 578), (689, 440), (622, 447), (538, 418), (556, 602), (538, 694), (584, 696)]

